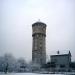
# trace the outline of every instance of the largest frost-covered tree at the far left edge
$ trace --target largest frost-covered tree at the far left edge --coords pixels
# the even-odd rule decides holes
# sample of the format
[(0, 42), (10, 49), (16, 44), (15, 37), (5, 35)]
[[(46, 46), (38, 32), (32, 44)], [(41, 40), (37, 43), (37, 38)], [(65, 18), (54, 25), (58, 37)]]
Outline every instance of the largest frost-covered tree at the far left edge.
[(16, 59), (11, 54), (5, 54), (0, 57), (0, 71), (12, 72), (15, 68)]

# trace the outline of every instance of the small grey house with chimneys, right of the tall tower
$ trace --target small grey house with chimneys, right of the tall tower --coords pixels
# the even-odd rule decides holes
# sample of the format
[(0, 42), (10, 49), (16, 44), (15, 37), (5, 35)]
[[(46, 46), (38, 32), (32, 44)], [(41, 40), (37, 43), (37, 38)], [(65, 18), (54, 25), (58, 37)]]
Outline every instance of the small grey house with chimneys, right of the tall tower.
[(71, 53), (51, 55), (51, 62), (55, 63), (55, 71), (69, 71), (71, 63)]

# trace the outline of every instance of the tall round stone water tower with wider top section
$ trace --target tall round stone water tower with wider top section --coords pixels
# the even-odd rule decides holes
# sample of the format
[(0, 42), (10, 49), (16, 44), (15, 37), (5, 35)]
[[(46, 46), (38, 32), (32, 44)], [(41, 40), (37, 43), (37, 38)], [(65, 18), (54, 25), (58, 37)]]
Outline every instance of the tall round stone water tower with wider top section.
[(32, 24), (32, 62), (43, 65), (46, 63), (46, 24), (40, 21)]

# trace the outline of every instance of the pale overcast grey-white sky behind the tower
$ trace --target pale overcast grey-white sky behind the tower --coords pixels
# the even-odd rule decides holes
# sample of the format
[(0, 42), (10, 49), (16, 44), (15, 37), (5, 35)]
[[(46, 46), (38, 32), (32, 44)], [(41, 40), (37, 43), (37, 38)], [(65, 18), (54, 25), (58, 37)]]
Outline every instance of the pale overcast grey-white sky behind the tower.
[(75, 0), (0, 0), (0, 55), (31, 60), (38, 19), (47, 24), (47, 55), (70, 50), (75, 60)]

